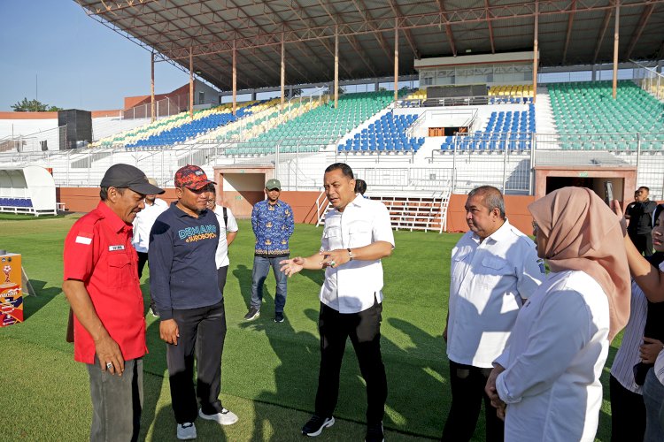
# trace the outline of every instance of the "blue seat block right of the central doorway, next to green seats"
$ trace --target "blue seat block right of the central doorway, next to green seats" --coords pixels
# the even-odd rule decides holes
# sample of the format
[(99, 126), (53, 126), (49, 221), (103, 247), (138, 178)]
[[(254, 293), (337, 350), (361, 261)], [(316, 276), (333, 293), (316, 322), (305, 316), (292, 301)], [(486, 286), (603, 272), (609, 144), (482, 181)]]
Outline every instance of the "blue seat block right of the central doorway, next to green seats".
[(529, 104), (524, 111), (491, 112), (483, 131), (467, 135), (447, 136), (441, 150), (510, 151), (529, 150), (532, 133), (535, 132), (535, 104)]

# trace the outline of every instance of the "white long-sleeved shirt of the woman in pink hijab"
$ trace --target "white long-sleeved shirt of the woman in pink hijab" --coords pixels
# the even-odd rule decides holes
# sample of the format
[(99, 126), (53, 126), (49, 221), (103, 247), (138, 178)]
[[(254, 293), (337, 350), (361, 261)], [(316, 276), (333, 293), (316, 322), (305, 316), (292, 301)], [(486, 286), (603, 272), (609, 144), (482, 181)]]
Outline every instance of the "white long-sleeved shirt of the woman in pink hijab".
[(608, 354), (606, 294), (583, 271), (550, 273), (525, 303), (496, 389), (507, 404), (505, 440), (592, 441)]

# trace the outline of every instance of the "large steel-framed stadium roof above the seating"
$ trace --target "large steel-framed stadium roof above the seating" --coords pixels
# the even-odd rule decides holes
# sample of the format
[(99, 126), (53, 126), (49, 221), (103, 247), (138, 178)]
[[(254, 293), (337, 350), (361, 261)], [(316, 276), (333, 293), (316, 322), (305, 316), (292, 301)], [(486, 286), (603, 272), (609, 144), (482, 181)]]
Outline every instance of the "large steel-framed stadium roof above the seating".
[[(664, 0), (75, 0), (90, 17), (221, 90), (414, 72), (413, 60), (532, 50), (540, 65), (664, 57)], [(619, 4), (619, 9), (616, 8)]]

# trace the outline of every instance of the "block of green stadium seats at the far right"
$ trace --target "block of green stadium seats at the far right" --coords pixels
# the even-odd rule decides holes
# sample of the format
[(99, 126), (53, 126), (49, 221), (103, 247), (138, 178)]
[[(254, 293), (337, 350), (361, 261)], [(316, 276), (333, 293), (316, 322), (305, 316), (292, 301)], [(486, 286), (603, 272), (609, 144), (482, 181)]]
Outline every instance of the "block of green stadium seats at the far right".
[(664, 103), (631, 81), (619, 81), (616, 99), (610, 81), (548, 86), (562, 149), (662, 149)]

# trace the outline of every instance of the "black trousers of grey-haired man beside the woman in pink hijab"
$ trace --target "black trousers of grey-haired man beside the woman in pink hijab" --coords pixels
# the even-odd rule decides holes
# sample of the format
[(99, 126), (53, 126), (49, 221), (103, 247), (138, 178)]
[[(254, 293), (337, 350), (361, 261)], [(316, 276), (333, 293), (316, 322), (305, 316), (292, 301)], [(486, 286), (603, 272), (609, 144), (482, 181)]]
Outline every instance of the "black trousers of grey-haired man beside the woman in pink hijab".
[(441, 440), (466, 442), (473, 438), (483, 400), (486, 415), (485, 440), (487, 442), (504, 440), (504, 423), (498, 419), (496, 408), (491, 407), (489, 396), (484, 392), (490, 373), (491, 369), (481, 369), (450, 361), (452, 408), (450, 408), (450, 414), (447, 415)]

